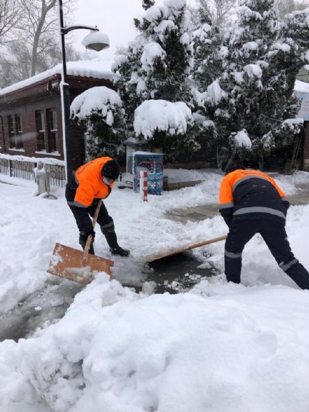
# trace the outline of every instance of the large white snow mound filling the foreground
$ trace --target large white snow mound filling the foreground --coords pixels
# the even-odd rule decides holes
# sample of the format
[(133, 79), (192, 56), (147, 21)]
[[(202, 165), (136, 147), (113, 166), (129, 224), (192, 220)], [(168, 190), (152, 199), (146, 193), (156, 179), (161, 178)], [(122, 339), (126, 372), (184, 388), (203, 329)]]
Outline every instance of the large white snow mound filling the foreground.
[[(0, 402), (8, 412), (30, 398), (37, 409), (24, 411), (307, 412), (308, 313), (308, 292), (284, 286), (205, 281), (146, 297), (102, 276), (41, 336), (3, 344), (21, 368), (1, 358)], [(14, 393), (8, 377), (19, 374)]]

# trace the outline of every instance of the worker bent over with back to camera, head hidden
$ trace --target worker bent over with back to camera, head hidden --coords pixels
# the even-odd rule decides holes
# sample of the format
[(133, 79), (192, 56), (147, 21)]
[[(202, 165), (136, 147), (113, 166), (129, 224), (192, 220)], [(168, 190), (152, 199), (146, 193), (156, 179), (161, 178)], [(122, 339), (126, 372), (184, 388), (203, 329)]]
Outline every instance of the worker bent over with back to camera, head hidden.
[(301, 288), (309, 288), (309, 273), (293, 255), (286, 235), (289, 203), (277, 183), (258, 170), (231, 165), (220, 185), (220, 214), (229, 227), (225, 242), (225, 275), (240, 283), (242, 251), (260, 233), (279, 267)]

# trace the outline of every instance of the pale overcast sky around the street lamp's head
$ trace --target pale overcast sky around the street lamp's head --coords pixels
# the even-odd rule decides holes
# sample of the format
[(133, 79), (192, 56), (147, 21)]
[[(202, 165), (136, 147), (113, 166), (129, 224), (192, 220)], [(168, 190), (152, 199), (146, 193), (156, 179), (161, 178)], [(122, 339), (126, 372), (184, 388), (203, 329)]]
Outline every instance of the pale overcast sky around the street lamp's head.
[[(187, 0), (187, 3), (194, 5), (195, 1)], [(163, 0), (157, 1), (157, 4), (163, 4)], [(100, 52), (100, 56), (112, 59), (117, 46), (126, 46), (135, 38), (137, 31), (133, 19), (143, 16), (144, 12), (141, 0), (77, 0), (71, 24), (97, 25), (100, 31), (108, 35), (111, 44), (109, 49)], [(81, 41), (87, 34), (87, 30), (73, 32), (74, 47), (80, 52), (84, 52)]]

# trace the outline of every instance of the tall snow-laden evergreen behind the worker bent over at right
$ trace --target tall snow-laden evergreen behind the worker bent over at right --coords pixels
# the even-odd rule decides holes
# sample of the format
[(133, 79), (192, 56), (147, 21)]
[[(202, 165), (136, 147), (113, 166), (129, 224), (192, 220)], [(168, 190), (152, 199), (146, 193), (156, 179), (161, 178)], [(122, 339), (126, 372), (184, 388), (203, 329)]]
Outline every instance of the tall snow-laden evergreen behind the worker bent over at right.
[[(261, 168), (264, 154), (291, 143), (299, 133), (299, 122), (289, 120), (297, 113), (293, 98), (296, 73), (290, 76), (274, 58), (278, 49), (284, 49), (277, 42), (280, 33), (276, 23), (274, 0), (241, 0), (237, 25), (227, 38), (225, 70), (203, 96), (203, 101), (211, 104), (222, 144), (232, 144), (241, 151), (233, 136), (245, 130)], [(308, 27), (302, 30), (308, 33)]]

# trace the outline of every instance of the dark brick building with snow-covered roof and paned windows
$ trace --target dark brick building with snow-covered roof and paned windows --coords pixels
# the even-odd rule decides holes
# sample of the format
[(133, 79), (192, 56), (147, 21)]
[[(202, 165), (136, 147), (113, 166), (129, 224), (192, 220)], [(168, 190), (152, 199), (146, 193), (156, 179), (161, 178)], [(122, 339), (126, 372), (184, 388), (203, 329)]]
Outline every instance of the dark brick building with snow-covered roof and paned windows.
[[(113, 89), (111, 61), (67, 63), (70, 100), (86, 89)], [(60, 99), (61, 65), (0, 90), (0, 153), (64, 160)], [(70, 124), (72, 165), (84, 162), (84, 131)]]

